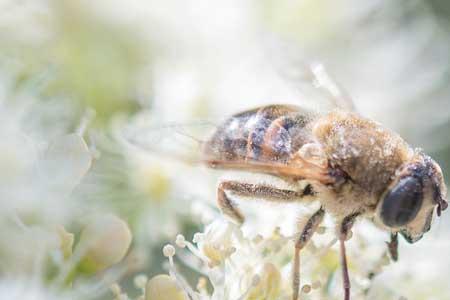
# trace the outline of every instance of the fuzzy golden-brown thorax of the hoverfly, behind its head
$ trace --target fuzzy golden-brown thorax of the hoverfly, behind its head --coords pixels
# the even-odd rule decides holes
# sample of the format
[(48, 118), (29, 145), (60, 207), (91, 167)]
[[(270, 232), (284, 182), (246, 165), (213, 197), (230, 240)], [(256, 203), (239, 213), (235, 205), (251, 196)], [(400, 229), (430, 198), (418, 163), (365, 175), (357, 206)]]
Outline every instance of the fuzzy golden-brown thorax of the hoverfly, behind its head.
[(349, 177), (336, 188), (335, 209), (344, 201), (353, 210), (358, 206), (374, 208), (396, 170), (413, 155), (398, 134), (351, 112), (333, 111), (322, 117), (313, 135), (330, 166)]

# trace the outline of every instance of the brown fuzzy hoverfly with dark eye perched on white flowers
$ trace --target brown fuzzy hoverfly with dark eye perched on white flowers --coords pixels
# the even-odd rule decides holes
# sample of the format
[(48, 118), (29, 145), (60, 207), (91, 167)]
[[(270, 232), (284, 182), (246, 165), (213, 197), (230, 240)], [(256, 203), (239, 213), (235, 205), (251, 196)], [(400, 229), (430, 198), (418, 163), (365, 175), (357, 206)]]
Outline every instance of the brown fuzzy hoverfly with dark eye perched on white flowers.
[[(299, 297), (300, 253), (326, 213), (339, 220), (343, 288), (350, 299), (345, 241), (357, 218), (369, 218), (391, 233), (388, 250), (397, 260), (398, 234), (409, 243), (429, 231), (434, 209), (448, 206), (439, 165), (398, 134), (364, 118), (321, 65), (310, 69), (315, 85), (336, 109), (319, 114), (293, 105), (268, 105), (235, 114), (202, 142), (201, 161), (214, 169), (270, 174), (292, 187), (225, 180), (217, 205), (241, 224), (234, 199), (276, 203), (319, 201), (295, 241), (293, 300)], [(151, 146), (150, 146), (151, 148)]]

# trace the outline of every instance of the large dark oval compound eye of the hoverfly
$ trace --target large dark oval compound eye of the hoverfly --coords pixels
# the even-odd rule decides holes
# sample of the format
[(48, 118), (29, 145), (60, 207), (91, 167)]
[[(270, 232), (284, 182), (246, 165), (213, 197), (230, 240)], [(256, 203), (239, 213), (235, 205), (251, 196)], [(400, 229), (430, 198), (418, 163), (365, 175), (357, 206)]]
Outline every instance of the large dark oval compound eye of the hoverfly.
[(423, 202), (422, 184), (415, 177), (402, 178), (384, 197), (380, 217), (389, 227), (400, 227), (416, 217)]

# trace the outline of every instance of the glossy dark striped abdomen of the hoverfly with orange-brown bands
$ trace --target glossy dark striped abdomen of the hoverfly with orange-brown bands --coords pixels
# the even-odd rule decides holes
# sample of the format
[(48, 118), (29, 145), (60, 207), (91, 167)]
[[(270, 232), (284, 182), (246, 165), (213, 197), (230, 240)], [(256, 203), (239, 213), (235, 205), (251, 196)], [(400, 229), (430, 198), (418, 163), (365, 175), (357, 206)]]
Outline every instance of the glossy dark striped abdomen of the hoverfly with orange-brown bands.
[(204, 147), (206, 160), (287, 163), (311, 141), (312, 115), (296, 106), (270, 105), (245, 111), (221, 125)]

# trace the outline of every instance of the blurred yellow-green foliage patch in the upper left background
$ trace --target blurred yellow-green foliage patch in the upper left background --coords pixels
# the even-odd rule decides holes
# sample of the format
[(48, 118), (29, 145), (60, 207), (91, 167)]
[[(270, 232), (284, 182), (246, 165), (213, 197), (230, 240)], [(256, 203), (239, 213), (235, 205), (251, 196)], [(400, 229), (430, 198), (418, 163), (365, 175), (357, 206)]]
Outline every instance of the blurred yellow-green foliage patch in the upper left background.
[(45, 97), (62, 96), (81, 110), (93, 108), (100, 124), (116, 113), (136, 111), (136, 80), (150, 57), (146, 44), (132, 30), (75, 2), (54, 2), (50, 8), (39, 24), (50, 27), (50, 37), (23, 41), (3, 33), (0, 55), (8, 57), (6, 67), (16, 73), (17, 87), (44, 76)]

